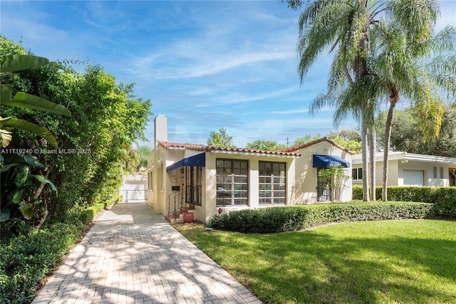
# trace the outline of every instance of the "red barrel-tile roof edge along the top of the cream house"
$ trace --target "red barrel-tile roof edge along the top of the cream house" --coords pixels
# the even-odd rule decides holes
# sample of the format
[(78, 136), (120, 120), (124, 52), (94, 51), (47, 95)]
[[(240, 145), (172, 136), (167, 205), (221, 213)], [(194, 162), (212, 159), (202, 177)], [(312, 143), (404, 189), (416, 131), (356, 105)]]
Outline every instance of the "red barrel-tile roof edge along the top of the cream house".
[(205, 146), (205, 145), (194, 145), (194, 144), (182, 144), (178, 142), (158, 142), (162, 147), (165, 149), (167, 148), (175, 148), (175, 149), (187, 149), (187, 150), (194, 150), (194, 151), (204, 151), (204, 152), (211, 152), (211, 151), (222, 151), (222, 152), (240, 152), (240, 153), (253, 153), (253, 154), (270, 154), (270, 155), (279, 155), (279, 156), (291, 156), (291, 157), (301, 157), (301, 153), (296, 153), (296, 150), (309, 147), (311, 145), (315, 145), (318, 142), (329, 142), (331, 145), (338, 147), (339, 149), (346, 151), (350, 154), (354, 154), (351, 150), (342, 147), (341, 145), (336, 144), (332, 140), (328, 140), (328, 137), (322, 137), (318, 140), (313, 140), (311, 142), (306, 142), (301, 145), (288, 147), (282, 150), (277, 151), (268, 151), (268, 150), (257, 150), (257, 149), (249, 149), (249, 148), (231, 148), (231, 147), (214, 147), (214, 146)]

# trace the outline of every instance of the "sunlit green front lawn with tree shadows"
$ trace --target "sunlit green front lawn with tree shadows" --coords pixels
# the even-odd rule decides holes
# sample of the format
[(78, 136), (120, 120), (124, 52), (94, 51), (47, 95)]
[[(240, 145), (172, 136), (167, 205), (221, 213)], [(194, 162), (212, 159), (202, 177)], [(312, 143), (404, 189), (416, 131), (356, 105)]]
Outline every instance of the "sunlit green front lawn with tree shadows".
[(264, 303), (456, 303), (456, 221), (364, 221), (280, 234), (175, 227)]

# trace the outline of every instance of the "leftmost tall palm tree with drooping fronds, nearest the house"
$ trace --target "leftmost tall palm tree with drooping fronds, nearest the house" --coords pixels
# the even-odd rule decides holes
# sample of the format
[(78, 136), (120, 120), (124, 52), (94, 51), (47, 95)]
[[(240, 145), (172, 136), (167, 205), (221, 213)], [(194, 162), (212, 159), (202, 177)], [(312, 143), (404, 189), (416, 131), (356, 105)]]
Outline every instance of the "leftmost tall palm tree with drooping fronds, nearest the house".
[[(289, 2), (290, 3), (290, 2)], [(320, 95), (311, 105), (315, 111), (324, 105), (343, 109), (337, 115), (345, 115), (348, 109), (361, 120), (361, 146), (363, 159), (363, 200), (368, 201), (367, 134), (373, 126), (373, 111), (369, 94), (362, 85), (368, 78), (369, 31), (378, 22), (375, 16), (381, 7), (367, 0), (315, 0), (299, 18), (300, 56), (298, 73), (301, 84), (316, 57), (326, 51), (335, 51), (328, 79), (328, 92)], [(340, 117), (334, 117), (335, 122)], [(371, 143), (371, 145), (374, 145)], [(371, 170), (371, 174), (374, 172)]]

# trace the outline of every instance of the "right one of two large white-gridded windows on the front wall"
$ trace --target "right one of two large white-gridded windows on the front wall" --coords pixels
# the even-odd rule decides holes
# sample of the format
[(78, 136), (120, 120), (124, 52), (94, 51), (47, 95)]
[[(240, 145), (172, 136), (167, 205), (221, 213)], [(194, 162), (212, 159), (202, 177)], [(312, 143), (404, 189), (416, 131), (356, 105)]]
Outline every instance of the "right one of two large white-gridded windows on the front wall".
[(286, 163), (259, 162), (259, 204), (286, 203)]

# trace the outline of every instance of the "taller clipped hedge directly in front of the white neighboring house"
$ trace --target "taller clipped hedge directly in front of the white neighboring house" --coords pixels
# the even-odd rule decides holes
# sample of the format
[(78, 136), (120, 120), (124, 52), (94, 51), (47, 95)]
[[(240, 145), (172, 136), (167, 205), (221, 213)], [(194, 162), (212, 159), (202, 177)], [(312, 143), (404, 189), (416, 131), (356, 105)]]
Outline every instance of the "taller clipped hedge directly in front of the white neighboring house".
[[(375, 197), (381, 199), (382, 187)], [(353, 199), (363, 199), (363, 187), (353, 186)], [(388, 200), (430, 203), (437, 216), (456, 217), (456, 187), (388, 187)]]

